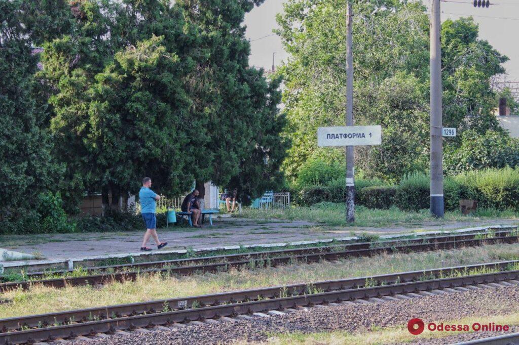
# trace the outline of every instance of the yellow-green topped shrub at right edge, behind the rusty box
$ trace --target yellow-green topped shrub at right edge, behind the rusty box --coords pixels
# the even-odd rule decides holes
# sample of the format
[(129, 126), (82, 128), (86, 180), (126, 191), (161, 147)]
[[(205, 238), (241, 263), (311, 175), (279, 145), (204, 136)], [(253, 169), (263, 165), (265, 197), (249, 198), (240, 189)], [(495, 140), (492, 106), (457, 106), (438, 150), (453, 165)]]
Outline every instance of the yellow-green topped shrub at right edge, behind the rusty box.
[(519, 210), (519, 168), (467, 171), (456, 176), (463, 198), (483, 208)]

